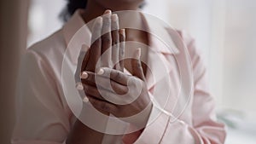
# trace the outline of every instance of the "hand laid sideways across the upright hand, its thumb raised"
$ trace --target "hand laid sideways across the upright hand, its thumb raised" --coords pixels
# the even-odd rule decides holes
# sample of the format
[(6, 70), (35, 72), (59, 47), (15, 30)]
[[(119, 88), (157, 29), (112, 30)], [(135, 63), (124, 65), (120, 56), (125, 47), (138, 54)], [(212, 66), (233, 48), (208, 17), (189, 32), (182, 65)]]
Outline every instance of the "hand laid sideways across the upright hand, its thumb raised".
[[(137, 124), (147, 123), (152, 103), (149, 99), (143, 67), (139, 58), (140, 49), (136, 51), (136, 59), (131, 60), (134, 76), (108, 67), (102, 67), (97, 74), (87, 72), (88, 77), (83, 79), (84, 89), (90, 103), (96, 109), (112, 113), (118, 118), (125, 118), (149, 107), (146, 114), (143, 114), (145, 118), (137, 118), (143, 119), (143, 122), (135, 122)], [(119, 100), (123, 104), (115, 104), (113, 101), (106, 100), (108, 98), (113, 101)]]

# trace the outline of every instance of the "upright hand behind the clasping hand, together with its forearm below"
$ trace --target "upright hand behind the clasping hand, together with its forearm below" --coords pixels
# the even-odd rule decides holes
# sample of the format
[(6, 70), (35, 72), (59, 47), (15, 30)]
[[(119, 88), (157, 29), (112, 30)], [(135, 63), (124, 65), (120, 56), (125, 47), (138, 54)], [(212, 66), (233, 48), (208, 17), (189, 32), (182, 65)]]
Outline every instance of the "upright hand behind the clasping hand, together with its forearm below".
[[(84, 73), (84, 71), (97, 72), (98, 68), (101, 66), (111, 67), (119, 70), (120, 72), (124, 71), (123, 57), (125, 55), (125, 44), (122, 42), (125, 42), (125, 31), (119, 30), (117, 14), (111, 14), (111, 11), (107, 10), (105, 15), (102, 17), (98, 17), (94, 23), (90, 48), (85, 45), (82, 47), (78, 61), (78, 63), (82, 64), (82, 66), (78, 66), (75, 73), (77, 88), (79, 89), (79, 92), (84, 92), (86, 95), (89, 95), (88, 90), (86, 90), (86, 87), (83, 87), (83, 84), (80, 82), (81, 78), (89, 77), (89, 75)], [(110, 26), (114, 31), (110, 31)], [(115, 44), (115, 46), (110, 49), (113, 44)], [(108, 52), (106, 55), (104, 55), (106, 50), (108, 50)], [(102, 54), (104, 56), (102, 56)], [(100, 60), (100, 65), (96, 65), (98, 60)], [(120, 61), (116, 63), (117, 60)], [(84, 85), (91, 86), (90, 84), (86, 83), (84, 83)], [(91, 96), (96, 97), (95, 94), (90, 94)], [(97, 110), (109, 115), (109, 112), (104, 112), (101, 109)], [(77, 119), (75, 124), (73, 124), (72, 130), (67, 136), (66, 142), (102, 143), (103, 136), (104, 134), (101, 132), (90, 129), (90, 127)]]

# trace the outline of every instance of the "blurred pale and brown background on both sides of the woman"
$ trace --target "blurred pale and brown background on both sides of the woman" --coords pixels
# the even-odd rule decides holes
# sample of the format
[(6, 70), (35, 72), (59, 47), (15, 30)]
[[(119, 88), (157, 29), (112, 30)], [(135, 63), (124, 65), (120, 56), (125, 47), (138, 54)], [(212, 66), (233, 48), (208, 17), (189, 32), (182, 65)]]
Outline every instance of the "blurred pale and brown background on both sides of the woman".
[[(195, 37), (206, 61), (218, 119), (228, 126), (226, 144), (256, 143), (256, 1), (146, 0), (143, 9)], [(20, 55), (60, 29), (65, 0), (0, 2), (0, 143), (14, 126), (15, 79)]]

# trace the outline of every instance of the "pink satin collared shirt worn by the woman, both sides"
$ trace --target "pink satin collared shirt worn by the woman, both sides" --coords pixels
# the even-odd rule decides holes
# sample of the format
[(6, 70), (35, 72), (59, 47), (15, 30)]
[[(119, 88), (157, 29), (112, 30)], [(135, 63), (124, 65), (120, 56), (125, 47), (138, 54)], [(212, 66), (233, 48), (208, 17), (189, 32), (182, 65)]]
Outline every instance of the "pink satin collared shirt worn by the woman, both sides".
[[(77, 10), (60, 31), (35, 43), (26, 51), (20, 66), (13, 144), (65, 143), (75, 117), (63, 93), (61, 66), (67, 43), (75, 32), (84, 26), (80, 13), (81, 10)], [(149, 28), (154, 28), (149, 23), (148, 25)], [(161, 108), (159, 104), (154, 103), (152, 113), (160, 112), (160, 115), (146, 128), (111, 141), (106, 138), (105, 143), (223, 144), (226, 135), (224, 124), (217, 122), (214, 101), (207, 84), (207, 70), (201, 55), (195, 49), (194, 39), (185, 32), (171, 28), (164, 32), (166, 37), (170, 37), (168, 35), (172, 35), (172, 32), (178, 32), (183, 40), (183, 43), (175, 43), (176, 39), (170, 37), (174, 42), (171, 51), (151, 37), (154, 54), (159, 55), (160, 60), (165, 62), (168, 77), (172, 82), (171, 85), (165, 84), (159, 61), (149, 54), (148, 65), (154, 73), (154, 78), (147, 77), (148, 91), (157, 99), (160, 95), (165, 95), (166, 89), (170, 89), (171, 97), (165, 101), (166, 107)], [(71, 52), (71, 59), (72, 57)], [(191, 68), (191, 72), (185, 75), (185, 78), (192, 82), (190, 86), (193, 89), (189, 99), (175, 96), (179, 94), (179, 90), (188, 87), (186, 84), (182, 88), (179, 87), (180, 68)], [(155, 90), (157, 86), (160, 91)], [(184, 103), (186, 107), (183, 107)], [(179, 110), (183, 110), (179, 117), (173, 117)]]

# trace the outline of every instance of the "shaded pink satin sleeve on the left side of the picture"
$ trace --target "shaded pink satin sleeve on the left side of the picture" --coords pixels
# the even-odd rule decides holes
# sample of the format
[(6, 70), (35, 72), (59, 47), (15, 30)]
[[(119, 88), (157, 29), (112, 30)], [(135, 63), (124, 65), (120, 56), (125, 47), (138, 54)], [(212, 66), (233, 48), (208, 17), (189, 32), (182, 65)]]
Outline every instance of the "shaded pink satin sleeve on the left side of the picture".
[(54, 72), (28, 50), (20, 65), (13, 144), (61, 144), (69, 131)]

